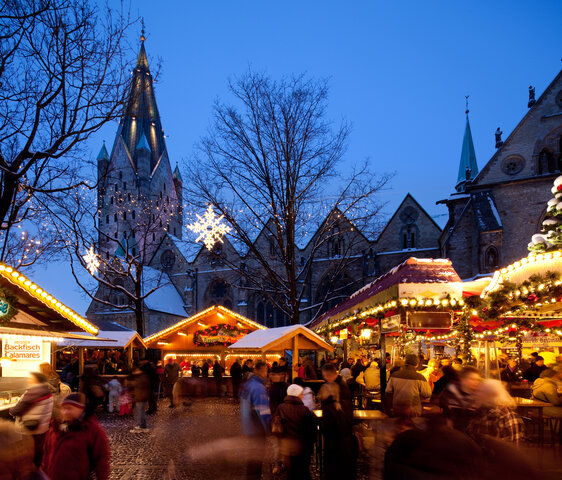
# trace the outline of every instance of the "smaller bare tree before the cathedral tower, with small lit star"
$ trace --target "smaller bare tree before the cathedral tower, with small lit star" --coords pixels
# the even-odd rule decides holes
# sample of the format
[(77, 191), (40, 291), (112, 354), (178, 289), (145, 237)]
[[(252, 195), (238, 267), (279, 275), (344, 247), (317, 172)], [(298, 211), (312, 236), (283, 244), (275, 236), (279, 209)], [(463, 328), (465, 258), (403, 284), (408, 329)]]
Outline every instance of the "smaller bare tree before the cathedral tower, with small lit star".
[[(72, 275), (101, 311), (131, 312), (136, 330), (143, 336), (145, 300), (169, 282), (162, 272), (147, 265), (174, 212), (157, 199), (118, 193), (114, 214), (121, 234), (108, 234), (100, 225), (106, 220), (101, 218), (101, 210), (84, 208), (95, 201), (93, 191), (83, 187), (73, 190), (56, 208), (51, 204)], [(86, 272), (96, 286), (85, 280)]]

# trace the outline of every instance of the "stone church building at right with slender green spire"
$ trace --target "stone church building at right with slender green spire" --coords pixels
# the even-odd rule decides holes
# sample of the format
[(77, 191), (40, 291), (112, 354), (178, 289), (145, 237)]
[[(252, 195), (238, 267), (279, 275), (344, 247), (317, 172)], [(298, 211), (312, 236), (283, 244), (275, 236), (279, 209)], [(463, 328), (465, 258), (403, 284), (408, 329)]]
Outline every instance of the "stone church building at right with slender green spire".
[[(468, 123), (441, 254), (463, 279), (489, 274), (527, 255), (540, 231), (554, 178), (562, 172), (562, 72), (478, 172)], [(499, 129), (498, 129), (499, 130)], [(497, 132), (500, 133), (500, 132)]]

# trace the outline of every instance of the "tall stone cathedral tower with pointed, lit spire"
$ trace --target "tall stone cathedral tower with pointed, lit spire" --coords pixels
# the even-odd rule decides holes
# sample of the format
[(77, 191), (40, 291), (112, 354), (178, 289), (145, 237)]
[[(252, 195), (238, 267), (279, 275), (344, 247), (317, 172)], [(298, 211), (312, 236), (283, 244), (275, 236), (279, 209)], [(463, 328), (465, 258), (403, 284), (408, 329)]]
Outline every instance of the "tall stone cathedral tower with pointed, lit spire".
[(146, 264), (166, 232), (182, 237), (181, 176), (172, 172), (141, 36), (111, 154), (98, 155), (99, 248)]

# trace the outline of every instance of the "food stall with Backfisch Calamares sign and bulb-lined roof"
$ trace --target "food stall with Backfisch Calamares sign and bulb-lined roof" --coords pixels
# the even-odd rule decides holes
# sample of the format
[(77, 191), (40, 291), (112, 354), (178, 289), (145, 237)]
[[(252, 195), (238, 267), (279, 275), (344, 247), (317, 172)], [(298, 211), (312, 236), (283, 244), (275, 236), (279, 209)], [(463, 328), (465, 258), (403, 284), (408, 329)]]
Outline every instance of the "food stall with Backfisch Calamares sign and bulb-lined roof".
[(18, 401), (30, 372), (44, 363), (54, 366), (56, 342), (92, 340), (98, 333), (95, 325), (25, 275), (0, 264), (0, 412)]

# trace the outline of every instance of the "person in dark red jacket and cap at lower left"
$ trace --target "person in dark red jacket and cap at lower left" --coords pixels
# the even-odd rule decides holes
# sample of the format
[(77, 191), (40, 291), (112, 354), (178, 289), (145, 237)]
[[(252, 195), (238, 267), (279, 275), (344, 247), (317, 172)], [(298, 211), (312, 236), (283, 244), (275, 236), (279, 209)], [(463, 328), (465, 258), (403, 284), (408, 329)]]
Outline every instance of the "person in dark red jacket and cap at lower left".
[(50, 480), (109, 479), (109, 441), (94, 416), (86, 415), (84, 396), (71, 393), (61, 404), (61, 421), (51, 421), (42, 469)]

